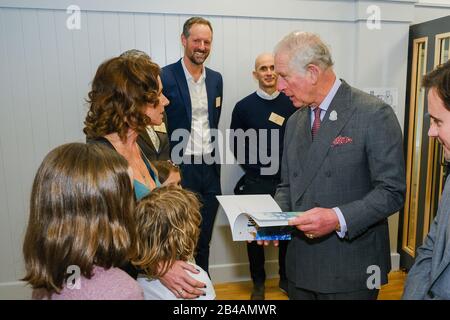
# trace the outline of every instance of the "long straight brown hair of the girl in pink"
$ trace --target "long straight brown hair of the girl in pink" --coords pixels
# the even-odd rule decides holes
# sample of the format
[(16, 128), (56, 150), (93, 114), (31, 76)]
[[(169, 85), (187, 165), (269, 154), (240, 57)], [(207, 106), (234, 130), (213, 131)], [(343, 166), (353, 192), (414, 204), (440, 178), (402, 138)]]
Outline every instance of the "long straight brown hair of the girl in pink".
[(34, 289), (59, 293), (76, 265), (120, 267), (136, 254), (128, 163), (100, 144), (69, 143), (44, 158), (34, 178), (23, 244)]

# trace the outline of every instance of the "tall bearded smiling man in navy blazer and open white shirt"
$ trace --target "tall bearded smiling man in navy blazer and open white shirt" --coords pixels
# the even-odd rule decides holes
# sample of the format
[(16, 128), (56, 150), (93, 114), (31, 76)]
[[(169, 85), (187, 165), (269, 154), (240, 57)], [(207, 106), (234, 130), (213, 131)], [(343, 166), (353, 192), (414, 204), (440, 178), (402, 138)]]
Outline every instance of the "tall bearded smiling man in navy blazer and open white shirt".
[(209, 242), (219, 206), (216, 195), (221, 194), (220, 165), (210, 160), (218, 156), (213, 131), (219, 124), (223, 82), (220, 73), (204, 66), (212, 36), (208, 20), (188, 19), (181, 34), (184, 56), (164, 67), (161, 73), (163, 93), (170, 101), (166, 114), (171, 158), (180, 164), (183, 188), (196, 192), (202, 201), (195, 261), (205, 271), (208, 271)]

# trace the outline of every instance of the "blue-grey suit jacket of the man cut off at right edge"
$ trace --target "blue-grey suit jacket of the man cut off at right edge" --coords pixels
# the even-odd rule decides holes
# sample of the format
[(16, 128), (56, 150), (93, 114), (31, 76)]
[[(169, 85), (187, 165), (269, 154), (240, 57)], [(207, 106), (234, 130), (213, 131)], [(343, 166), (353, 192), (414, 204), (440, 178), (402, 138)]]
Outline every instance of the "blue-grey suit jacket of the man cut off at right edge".
[(450, 300), (450, 179), (430, 232), (408, 272), (403, 299)]

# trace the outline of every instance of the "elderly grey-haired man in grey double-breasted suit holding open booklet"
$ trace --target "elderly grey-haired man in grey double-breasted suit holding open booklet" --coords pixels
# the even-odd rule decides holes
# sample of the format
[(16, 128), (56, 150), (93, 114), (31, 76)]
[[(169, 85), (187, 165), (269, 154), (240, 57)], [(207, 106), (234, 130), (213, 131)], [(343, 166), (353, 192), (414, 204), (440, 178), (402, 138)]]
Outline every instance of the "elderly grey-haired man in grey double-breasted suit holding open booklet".
[(402, 132), (390, 106), (336, 77), (328, 47), (293, 32), (275, 48), (286, 126), (283, 211), (304, 211), (286, 255), (290, 299), (376, 299), (390, 271), (387, 218), (404, 203)]

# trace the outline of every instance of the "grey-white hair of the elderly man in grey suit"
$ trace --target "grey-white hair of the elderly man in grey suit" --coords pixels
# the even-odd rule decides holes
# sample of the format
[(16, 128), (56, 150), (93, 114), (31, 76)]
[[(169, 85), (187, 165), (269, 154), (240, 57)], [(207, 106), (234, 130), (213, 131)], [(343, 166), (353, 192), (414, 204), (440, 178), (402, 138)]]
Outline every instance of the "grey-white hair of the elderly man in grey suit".
[(275, 55), (287, 54), (289, 67), (304, 74), (309, 64), (314, 64), (322, 70), (333, 66), (328, 46), (317, 34), (294, 31), (285, 36), (275, 47)]

